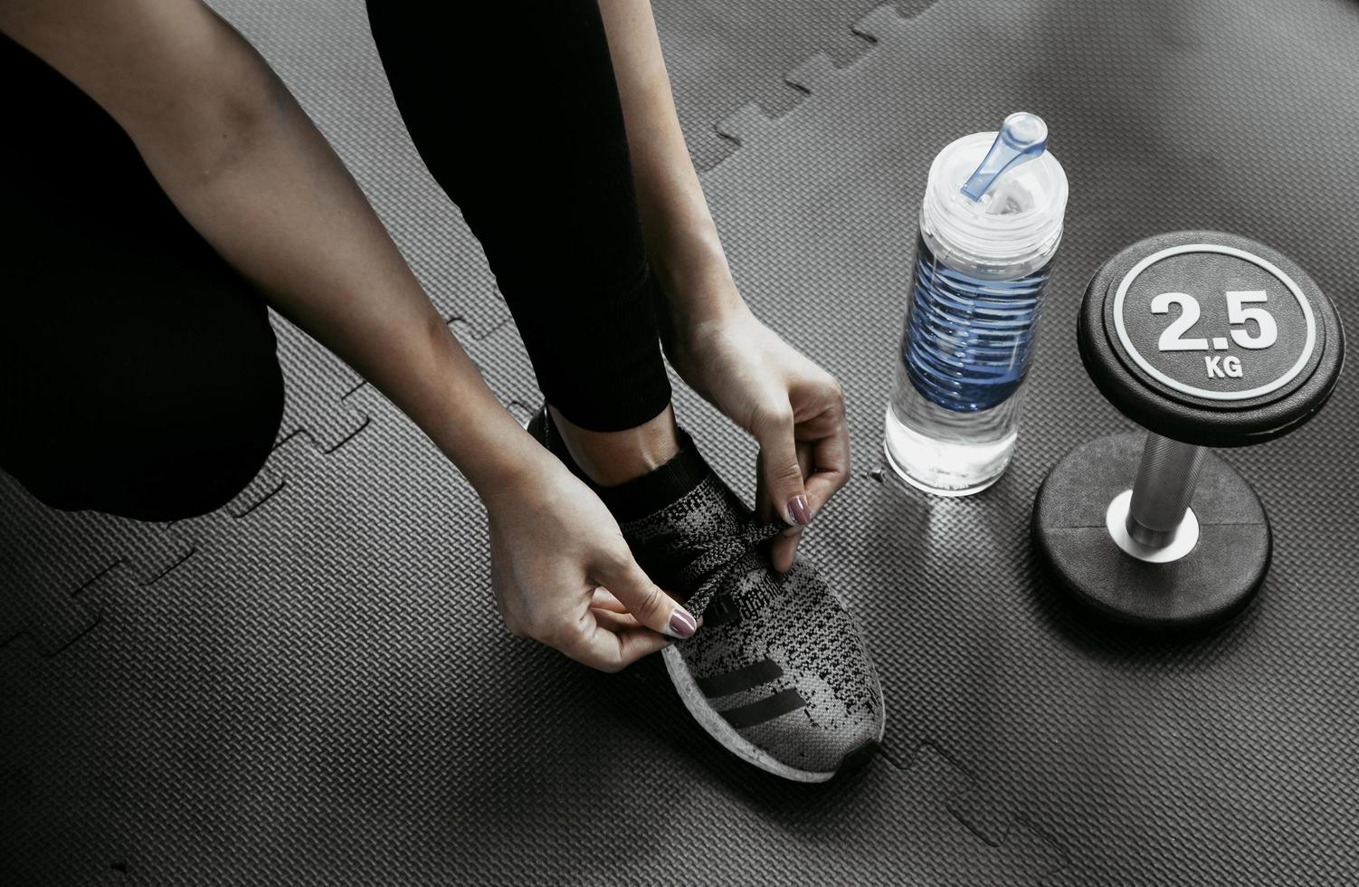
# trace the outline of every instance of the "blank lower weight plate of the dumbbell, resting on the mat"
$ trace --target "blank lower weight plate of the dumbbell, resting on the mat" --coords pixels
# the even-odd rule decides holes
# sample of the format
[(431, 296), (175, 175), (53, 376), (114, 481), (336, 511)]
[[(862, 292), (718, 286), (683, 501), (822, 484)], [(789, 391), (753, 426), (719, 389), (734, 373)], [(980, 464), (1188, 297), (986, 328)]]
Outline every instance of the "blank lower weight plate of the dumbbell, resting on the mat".
[(1246, 479), (1204, 453), (1190, 509), (1193, 548), (1177, 560), (1129, 556), (1109, 535), (1109, 503), (1132, 487), (1146, 435), (1098, 438), (1048, 475), (1033, 512), (1040, 559), (1076, 600), (1120, 623), (1155, 630), (1207, 629), (1238, 614), (1260, 589), (1272, 541), (1264, 506)]

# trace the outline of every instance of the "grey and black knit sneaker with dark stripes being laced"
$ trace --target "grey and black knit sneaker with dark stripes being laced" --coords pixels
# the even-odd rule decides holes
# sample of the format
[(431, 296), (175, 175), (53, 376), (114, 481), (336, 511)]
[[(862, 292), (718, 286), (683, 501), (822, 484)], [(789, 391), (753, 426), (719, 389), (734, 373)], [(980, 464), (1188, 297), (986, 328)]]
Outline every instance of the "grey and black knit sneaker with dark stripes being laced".
[[(580, 475), (546, 409), (529, 431)], [(833, 777), (882, 740), (882, 688), (844, 603), (799, 555), (783, 577), (762, 524), (681, 431), (681, 453), (622, 487), (595, 490), (637, 563), (704, 622), (667, 646), (666, 671), (685, 707), (737, 756), (800, 782)], [(659, 510), (655, 488), (686, 490)], [(650, 486), (639, 497), (639, 487)]]

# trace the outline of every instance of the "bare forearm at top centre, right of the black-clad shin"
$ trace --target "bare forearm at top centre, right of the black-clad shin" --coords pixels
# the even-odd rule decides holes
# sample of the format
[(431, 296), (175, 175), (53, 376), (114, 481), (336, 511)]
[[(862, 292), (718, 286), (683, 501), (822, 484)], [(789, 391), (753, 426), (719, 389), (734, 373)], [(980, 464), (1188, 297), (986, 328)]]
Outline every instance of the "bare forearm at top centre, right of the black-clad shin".
[(647, 250), (670, 317), (718, 320), (745, 305), (680, 129), (648, 0), (599, 0), (628, 129)]

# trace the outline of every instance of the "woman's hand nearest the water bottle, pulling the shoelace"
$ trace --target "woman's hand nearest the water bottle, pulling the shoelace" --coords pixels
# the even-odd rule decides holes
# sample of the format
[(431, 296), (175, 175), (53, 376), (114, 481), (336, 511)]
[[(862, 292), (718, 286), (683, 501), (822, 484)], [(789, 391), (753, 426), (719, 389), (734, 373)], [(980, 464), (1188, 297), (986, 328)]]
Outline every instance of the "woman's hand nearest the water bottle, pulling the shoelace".
[(716, 317), (670, 325), (670, 362), (689, 385), (760, 442), (757, 507), (788, 529), (771, 560), (792, 566), (802, 528), (849, 479), (849, 431), (840, 384), (743, 302)]

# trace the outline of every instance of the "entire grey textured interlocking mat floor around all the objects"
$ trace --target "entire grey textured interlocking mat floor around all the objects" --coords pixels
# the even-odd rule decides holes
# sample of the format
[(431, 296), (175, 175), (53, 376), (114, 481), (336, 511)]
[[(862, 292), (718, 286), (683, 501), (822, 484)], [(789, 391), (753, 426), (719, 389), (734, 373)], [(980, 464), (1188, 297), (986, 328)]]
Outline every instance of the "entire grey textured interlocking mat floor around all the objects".
[[(361, 5), (216, 5), (526, 415), (527, 359), (401, 129)], [(1359, 159), (1359, 5), (655, 5), (737, 279), (847, 390), (858, 475), (806, 551), (866, 624), (885, 751), (829, 786), (779, 784), (716, 750), (655, 664), (605, 676), (507, 635), (472, 490), (280, 321), (284, 439), (222, 512), (58, 514), (0, 478), (0, 883), (1359, 880), (1351, 374), (1310, 426), (1227, 453), (1276, 550), (1216, 635), (1091, 626), (1027, 543), (1046, 469), (1127, 429), (1074, 341), (1082, 287), (1120, 246), (1248, 234), (1354, 320), (1337, 170)], [(934, 154), (1019, 107), (1071, 180), (1067, 239), (1011, 469), (932, 499), (871, 472), (915, 212)], [(750, 442), (678, 401), (749, 495)]]

